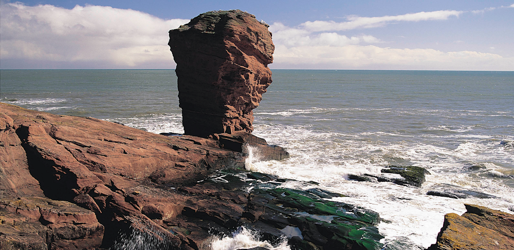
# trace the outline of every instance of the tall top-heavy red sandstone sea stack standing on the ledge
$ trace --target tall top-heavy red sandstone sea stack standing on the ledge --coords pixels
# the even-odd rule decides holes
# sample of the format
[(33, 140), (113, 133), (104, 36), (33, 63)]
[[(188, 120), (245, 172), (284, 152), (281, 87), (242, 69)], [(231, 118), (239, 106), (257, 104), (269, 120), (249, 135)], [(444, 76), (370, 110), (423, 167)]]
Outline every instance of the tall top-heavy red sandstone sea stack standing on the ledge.
[(170, 30), (186, 134), (252, 132), (253, 109), (271, 83), (268, 25), (240, 10), (211, 11)]

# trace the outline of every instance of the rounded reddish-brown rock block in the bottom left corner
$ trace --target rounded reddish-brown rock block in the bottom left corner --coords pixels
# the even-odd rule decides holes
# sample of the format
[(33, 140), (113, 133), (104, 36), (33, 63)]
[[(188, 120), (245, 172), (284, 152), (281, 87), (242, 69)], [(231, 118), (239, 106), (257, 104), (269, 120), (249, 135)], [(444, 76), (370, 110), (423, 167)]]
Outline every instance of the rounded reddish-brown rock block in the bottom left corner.
[(93, 211), (66, 201), (25, 196), (0, 202), (1, 249), (95, 249), (104, 227)]

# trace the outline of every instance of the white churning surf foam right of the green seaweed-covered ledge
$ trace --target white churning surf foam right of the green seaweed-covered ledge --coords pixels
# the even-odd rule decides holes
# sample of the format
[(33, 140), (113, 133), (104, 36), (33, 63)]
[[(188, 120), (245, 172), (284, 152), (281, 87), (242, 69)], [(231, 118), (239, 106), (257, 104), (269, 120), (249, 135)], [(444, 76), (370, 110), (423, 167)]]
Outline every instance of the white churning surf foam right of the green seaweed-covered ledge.
[[(256, 136), (265, 138), (268, 143), (285, 147), (291, 155), (289, 159), (282, 161), (254, 162), (254, 169), (282, 178), (316, 181), (324, 189), (348, 196), (335, 200), (377, 211), (381, 218), (390, 221), (382, 222), (378, 226), (380, 233), (386, 235), (384, 242), (405, 236), (423, 247), (428, 247), (435, 243), (444, 215), (464, 213), (464, 203), (484, 205), (505, 212), (512, 205), (512, 188), (500, 181), (467, 172), (469, 164), (480, 162), (485, 167), (485, 172), (488, 169), (503, 169), (486, 162), (492, 156), (498, 157), (500, 161), (509, 161), (505, 155), (499, 155), (499, 150), (504, 147), (498, 147), (498, 142), (489, 143), (473, 138), (461, 139), (464, 141), (456, 146), (454, 143), (423, 144), (401, 139), (382, 142), (370, 137), (382, 134), (393, 137), (398, 135), (377, 131), (348, 136), (314, 130), (308, 126), (256, 124), (254, 127), (253, 133)], [(488, 151), (492, 152), (484, 153)], [(421, 188), (389, 182), (346, 180), (348, 174), (378, 174), (381, 168), (394, 163), (422, 166), (432, 175), (427, 175), (427, 181)], [(500, 198), (451, 199), (426, 195), (431, 188), (442, 183)], [(295, 187), (293, 184), (287, 185)]]

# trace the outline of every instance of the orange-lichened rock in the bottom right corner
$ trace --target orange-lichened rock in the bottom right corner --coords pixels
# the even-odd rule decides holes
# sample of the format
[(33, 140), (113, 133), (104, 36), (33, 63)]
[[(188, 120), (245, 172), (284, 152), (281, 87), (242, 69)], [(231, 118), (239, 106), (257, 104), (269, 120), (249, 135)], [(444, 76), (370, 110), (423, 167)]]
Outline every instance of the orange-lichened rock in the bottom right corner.
[(514, 249), (514, 215), (465, 204), (462, 216), (447, 214), (430, 250)]

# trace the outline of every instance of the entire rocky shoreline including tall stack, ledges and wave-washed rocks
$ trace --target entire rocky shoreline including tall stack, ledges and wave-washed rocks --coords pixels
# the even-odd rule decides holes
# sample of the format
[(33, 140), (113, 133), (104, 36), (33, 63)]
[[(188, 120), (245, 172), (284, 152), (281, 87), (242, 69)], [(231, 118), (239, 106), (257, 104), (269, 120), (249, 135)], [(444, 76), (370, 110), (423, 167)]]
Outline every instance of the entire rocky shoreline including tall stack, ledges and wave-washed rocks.
[[(381, 243), (379, 215), (331, 200), (340, 194), (245, 169), (250, 150), (261, 160), (289, 157), (251, 134), (252, 110), (271, 83), (267, 27), (231, 10), (170, 31), (186, 134), (0, 103), (0, 250), (207, 250), (244, 230), (268, 242), (252, 250), (406, 249), (403, 239)], [(389, 166), (350, 179), (416, 188), (426, 174)], [(429, 193), (491, 198), (452, 186)], [(514, 248), (513, 215), (466, 208), (446, 215), (431, 250)]]

